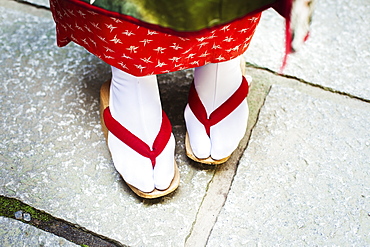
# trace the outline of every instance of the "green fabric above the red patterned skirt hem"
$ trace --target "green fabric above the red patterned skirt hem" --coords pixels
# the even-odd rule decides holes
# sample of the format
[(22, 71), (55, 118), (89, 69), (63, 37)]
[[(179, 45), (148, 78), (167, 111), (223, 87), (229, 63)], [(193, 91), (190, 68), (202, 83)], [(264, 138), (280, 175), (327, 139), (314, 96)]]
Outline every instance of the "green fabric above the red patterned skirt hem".
[[(90, 0), (82, 0), (90, 3)], [(96, 0), (93, 5), (176, 31), (198, 31), (243, 17), (276, 0)]]

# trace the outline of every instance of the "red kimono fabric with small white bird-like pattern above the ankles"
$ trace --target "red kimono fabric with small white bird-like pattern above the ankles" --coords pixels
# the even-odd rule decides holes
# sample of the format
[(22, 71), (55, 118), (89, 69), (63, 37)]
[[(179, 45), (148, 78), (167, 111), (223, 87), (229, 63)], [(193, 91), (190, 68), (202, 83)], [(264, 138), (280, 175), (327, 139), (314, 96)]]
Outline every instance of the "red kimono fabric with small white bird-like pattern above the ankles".
[(58, 46), (73, 41), (134, 76), (163, 74), (233, 59), (247, 50), (261, 15), (247, 16), (201, 35), (183, 38), (64, 0), (50, 0), (50, 7)]

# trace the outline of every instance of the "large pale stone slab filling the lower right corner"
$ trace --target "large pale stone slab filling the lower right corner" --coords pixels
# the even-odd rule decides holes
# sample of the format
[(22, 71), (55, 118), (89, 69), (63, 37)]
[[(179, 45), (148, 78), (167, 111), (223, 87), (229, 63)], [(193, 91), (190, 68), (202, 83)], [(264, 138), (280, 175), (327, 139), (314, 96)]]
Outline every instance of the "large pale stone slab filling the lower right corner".
[(207, 246), (369, 246), (370, 105), (274, 85)]

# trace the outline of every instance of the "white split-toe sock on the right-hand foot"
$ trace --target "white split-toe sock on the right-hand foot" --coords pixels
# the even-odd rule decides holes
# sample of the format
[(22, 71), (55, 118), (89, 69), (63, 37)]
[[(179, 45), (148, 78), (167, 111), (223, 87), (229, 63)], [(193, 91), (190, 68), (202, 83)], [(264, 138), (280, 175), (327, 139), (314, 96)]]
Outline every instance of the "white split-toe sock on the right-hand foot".
[[(240, 57), (207, 64), (194, 71), (195, 89), (208, 116), (233, 95), (241, 82)], [(231, 114), (211, 127), (209, 138), (203, 125), (187, 106), (184, 116), (194, 155), (198, 158), (211, 156), (215, 160), (229, 156), (245, 134), (248, 114), (248, 104), (243, 101)]]

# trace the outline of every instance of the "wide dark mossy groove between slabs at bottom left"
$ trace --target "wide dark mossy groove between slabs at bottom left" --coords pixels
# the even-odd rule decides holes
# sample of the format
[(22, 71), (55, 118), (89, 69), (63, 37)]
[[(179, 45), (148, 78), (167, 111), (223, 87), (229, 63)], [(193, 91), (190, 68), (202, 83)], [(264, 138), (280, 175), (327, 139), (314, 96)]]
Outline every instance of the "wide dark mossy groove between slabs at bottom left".
[(81, 246), (124, 247), (83, 227), (58, 219), (15, 198), (0, 195), (0, 216), (19, 220)]

